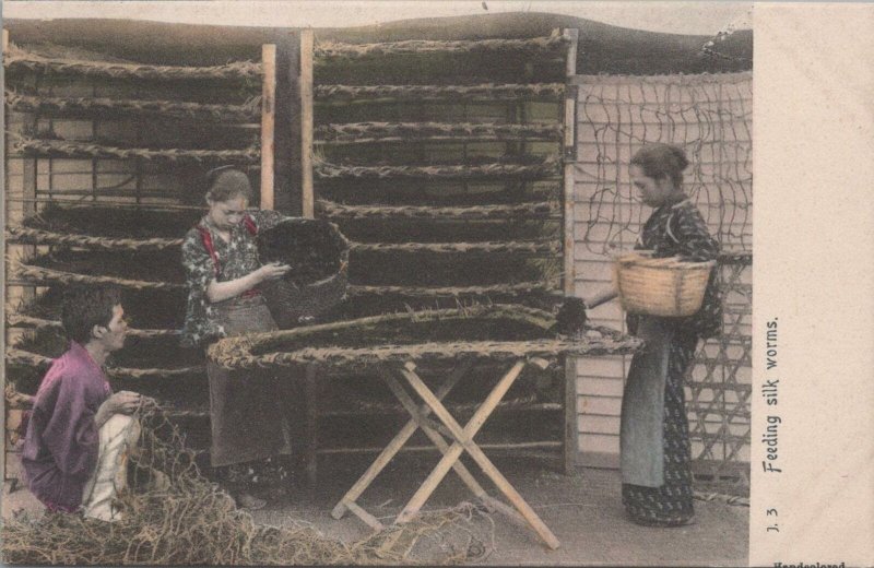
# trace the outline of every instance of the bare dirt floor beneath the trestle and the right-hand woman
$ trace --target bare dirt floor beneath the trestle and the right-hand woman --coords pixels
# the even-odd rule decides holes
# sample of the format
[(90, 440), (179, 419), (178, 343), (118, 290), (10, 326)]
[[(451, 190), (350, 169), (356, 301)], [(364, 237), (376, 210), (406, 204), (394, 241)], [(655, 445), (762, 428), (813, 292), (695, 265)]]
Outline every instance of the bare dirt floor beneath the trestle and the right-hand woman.
[[(430, 460), (423, 464), (410, 459), (392, 463), (358, 504), (383, 523), (391, 523), (427, 475), (430, 463)], [(747, 564), (746, 507), (728, 505), (723, 500), (696, 500), (695, 524), (676, 529), (643, 528), (624, 517), (617, 471), (581, 469), (565, 476), (538, 462), (496, 461), (496, 464), (562, 544), (558, 549), (551, 551), (533, 532), (497, 512), (474, 516), (463, 529), (465, 534), (484, 541), (488, 552), (476, 551), (470, 564), (696, 567)], [(362, 460), (333, 458), (322, 464), (316, 490), (309, 492), (297, 484), (284, 495), (267, 494), (265, 497), (271, 497), (268, 507), (252, 516), (258, 522), (273, 525), (304, 520), (326, 536), (345, 542), (365, 537), (370, 530), (361, 520), (346, 513), (338, 521), (330, 511), (366, 465)], [(479, 471), (475, 466), (470, 469)], [(491, 484), (483, 486), (497, 496)], [(5, 487), (3, 495), (4, 517), (36, 505), (26, 489), (12, 494), (7, 493), (8, 489)], [(450, 472), (423, 511), (439, 512), (470, 499), (472, 495), (468, 488)], [(425, 541), (422, 547), (439, 545)], [(458, 542), (461, 541), (456, 539), (451, 545)], [(414, 549), (412, 557), (420, 554), (427, 557), (428, 551), (423, 551)]]

